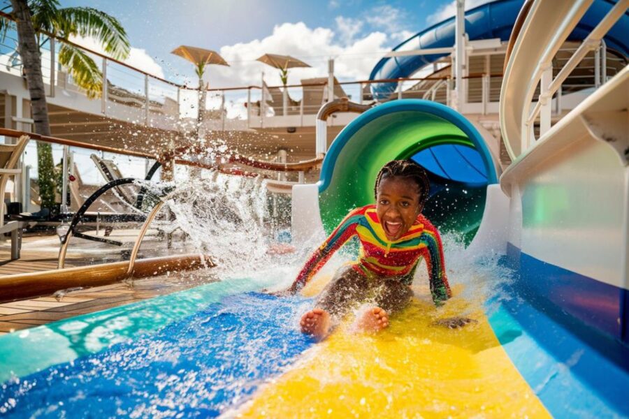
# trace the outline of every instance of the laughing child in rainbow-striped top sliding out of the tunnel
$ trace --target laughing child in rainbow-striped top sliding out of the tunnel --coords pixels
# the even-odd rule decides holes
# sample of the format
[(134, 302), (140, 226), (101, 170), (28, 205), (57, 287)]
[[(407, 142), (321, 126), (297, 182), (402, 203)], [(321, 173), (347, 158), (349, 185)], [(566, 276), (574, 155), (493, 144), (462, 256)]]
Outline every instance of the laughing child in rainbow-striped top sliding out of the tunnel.
[(386, 328), (389, 315), (410, 302), (410, 284), (422, 258), (428, 265), (435, 304), (440, 305), (451, 296), (441, 238), (421, 215), (429, 190), (424, 168), (414, 161), (394, 160), (384, 165), (375, 182), (376, 204), (349, 212), (289, 288), (291, 293), (298, 292), (347, 240), (354, 235), (359, 237), (359, 260), (341, 267), (321, 291), (315, 308), (301, 318), (303, 333), (324, 339), (333, 321), (355, 304), (367, 301), (376, 307), (363, 310), (356, 326), (373, 332)]

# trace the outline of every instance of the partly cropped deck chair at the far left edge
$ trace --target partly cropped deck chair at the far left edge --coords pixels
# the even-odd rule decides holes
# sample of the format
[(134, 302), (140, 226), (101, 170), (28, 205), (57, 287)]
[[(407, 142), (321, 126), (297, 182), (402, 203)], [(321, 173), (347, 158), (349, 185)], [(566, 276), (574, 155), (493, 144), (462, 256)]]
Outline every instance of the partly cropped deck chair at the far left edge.
[[(29, 142), (27, 135), (22, 135), (15, 144), (0, 145), (0, 191), (4, 200), (4, 191), (9, 177), (22, 173), (22, 169), (16, 168), (24, 148)], [(20, 258), (22, 247), (22, 225), (19, 221), (4, 223), (5, 204), (0, 205), (0, 233), (11, 233), (11, 260)]]

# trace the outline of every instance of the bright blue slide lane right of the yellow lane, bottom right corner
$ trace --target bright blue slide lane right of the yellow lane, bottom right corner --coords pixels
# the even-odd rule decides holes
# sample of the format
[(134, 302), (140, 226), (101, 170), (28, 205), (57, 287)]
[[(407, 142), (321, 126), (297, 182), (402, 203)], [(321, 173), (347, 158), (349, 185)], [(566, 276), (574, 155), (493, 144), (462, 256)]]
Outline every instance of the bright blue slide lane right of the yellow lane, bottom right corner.
[(629, 417), (629, 371), (617, 356), (601, 350), (616, 346), (629, 355), (629, 348), (603, 334), (588, 342), (583, 336), (592, 337), (593, 329), (578, 321), (572, 327), (556, 321), (507, 288), (504, 295), (512, 297), (488, 302), (489, 322), (549, 412), (555, 418)]

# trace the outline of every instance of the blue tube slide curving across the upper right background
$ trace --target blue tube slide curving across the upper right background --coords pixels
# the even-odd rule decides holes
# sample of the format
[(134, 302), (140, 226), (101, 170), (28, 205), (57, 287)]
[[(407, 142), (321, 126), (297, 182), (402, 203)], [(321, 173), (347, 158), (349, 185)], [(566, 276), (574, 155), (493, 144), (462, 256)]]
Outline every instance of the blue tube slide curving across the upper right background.
[[(522, 3), (522, 0), (497, 0), (465, 11), (465, 32), (470, 41), (492, 38), (508, 41)], [(614, 3), (610, 0), (595, 0), (568, 39), (571, 41), (583, 40), (614, 6)], [(627, 56), (629, 51), (628, 29), (629, 14), (625, 13), (605, 36), (607, 47)], [(425, 50), (451, 47), (452, 45), (454, 45), (454, 17), (420, 31), (393, 48), (393, 51)], [(407, 78), (426, 64), (431, 64), (445, 55), (408, 55), (383, 58), (373, 68), (369, 79)], [(397, 83), (391, 82), (371, 84), (372, 93), (377, 99), (389, 97), (396, 88)]]

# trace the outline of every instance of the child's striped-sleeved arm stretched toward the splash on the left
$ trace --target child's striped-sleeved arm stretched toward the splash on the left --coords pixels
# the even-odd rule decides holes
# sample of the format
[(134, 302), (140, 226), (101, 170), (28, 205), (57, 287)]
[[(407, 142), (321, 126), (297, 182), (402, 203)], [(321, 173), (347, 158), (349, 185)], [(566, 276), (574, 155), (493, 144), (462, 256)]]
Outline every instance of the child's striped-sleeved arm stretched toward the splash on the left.
[(359, 208), (357, 210), (353, 210), (343, 221), (340, 222), (337, 228), (332, 232), (330, 237), (326, 239), (326, 241), (321, 244), (319, 249), (312, 253), (308, 262), (305, 263), (301, 272), (297, 275), (297, 279), (295, 279), (291, 288), (289, 288), (290, 293), (296, 293), (301, 290), (305, 284), (308, 284), (308, 281), (312, 279), (312, 277), (317, 274), (317, 272), (323, 267), (329, 258), (332, 257), (335, 251), (340, 249), (347, 240), (352, 238), (354, 234), (356, 234), (356, 225), (357, 219), (362, 215), (362, 209)]

